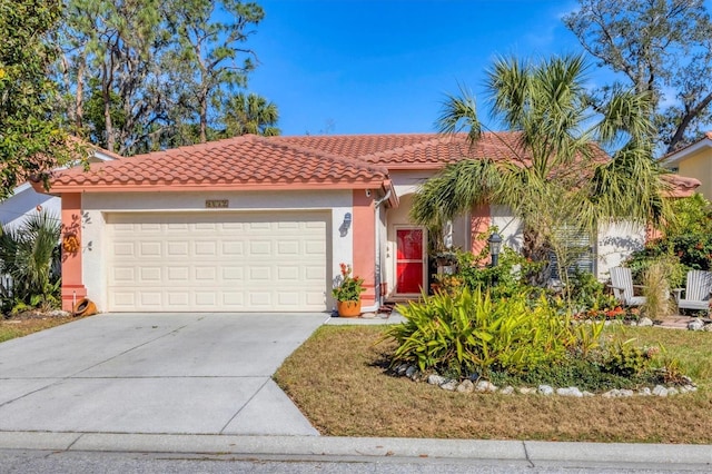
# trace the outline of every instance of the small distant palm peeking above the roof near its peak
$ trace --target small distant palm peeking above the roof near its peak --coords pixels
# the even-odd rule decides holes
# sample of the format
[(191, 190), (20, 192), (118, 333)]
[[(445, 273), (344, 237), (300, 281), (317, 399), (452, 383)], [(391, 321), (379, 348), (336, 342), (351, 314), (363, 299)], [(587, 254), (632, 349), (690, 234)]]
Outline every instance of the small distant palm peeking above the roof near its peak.
[(276, 127), (278, 120), (277, 106), (256, 93), (237, 93), (225, 105), (225, 135), (228, 137), (245, 134), (276, 136), (280, 134)]

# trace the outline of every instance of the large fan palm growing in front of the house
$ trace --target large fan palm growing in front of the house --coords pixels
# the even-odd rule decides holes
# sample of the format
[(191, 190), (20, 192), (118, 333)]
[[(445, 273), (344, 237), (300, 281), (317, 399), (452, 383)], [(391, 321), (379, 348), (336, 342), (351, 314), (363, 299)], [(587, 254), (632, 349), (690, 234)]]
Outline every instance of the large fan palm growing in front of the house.
[[(541, 260), (551, 249), (567, 286), (566, 269), (577, 255), (564, 234), (593, 236), (599, 223), (665, 218), (664, 171), (652, 159), (649, 139), (649, 98), (613, 90), (604, 106), (595, 107), (585, 70), (581, 56), (495, 61), (486, 82), (492, 116), (511, 131), (491, 134), (511, 159), (464, 157), (446, 167), (416, 194), (413, 219), (432, 225), (474, 205), (505, 205), (524, 225), (525, 254)], [(449, 96), (438, 127), (446, 135), (465, 130), (475, 144), (484, 127), (472, 95)], [(610, 158), (599, 146), (610, 150)]]

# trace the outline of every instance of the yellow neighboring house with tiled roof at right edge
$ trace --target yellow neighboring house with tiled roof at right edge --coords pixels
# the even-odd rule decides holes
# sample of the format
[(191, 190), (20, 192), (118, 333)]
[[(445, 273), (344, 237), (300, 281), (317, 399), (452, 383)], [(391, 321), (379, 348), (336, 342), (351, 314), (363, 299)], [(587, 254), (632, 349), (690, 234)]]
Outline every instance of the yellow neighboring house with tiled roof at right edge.
[(712, 200), (712, 131), (700, 140), (662, 158), (663, 166), (682, 177), (696, 178), (698, 189), (705, 199)]

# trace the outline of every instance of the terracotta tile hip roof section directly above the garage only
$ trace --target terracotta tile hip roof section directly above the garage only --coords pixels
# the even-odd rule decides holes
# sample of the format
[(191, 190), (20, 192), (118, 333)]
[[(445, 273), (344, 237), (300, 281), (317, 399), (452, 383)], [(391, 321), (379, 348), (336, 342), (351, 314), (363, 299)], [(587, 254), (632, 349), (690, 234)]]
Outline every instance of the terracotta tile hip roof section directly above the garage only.
[(384, 167), (265, 137), (243, 136), (58, 172), (51, 191), (171, 187), (184, 190), (266, 186), (380, 187)]

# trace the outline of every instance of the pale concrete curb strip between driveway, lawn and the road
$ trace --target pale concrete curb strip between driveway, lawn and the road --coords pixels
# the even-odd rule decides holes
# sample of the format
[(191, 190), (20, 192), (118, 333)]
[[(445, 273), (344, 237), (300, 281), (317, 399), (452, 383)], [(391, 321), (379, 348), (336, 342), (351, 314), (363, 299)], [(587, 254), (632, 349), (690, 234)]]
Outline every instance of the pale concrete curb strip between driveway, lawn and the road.
[(0, 450), (220, 454), (236, 457), (506, 461), (522, 467), (580, 466), (712, 470), (712, 446), (555, 443), (537, 441), (414, 440), (329, 436), (231, 436), (0, 432)]

